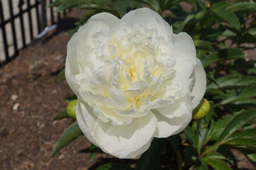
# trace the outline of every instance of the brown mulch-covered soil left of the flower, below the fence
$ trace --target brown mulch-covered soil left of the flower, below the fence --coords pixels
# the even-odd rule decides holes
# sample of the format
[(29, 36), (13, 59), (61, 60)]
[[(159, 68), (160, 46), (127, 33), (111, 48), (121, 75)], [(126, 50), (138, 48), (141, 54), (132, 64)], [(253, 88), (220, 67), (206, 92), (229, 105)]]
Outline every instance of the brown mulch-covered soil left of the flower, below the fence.
[[(104, 153), (89, 163), (90, 142), (86, 137), (74, 140), (50, 159), (54, 144), (71, 121), (52, 121), (66, 108), (62, 98), (73, 94), (66, 82), (59, 83), (57, 78), (65, 65), (70, 39), (64, 33), (74, 27), (82, 13), (70, 12), (59, 23), (60, 29), (32, 43), (0, 68), (0, 169), (86, 170), (108, 162), (134, 166), (133, 160), (118, 160)], [(245, 164), (241, 168), (251, 167)]]

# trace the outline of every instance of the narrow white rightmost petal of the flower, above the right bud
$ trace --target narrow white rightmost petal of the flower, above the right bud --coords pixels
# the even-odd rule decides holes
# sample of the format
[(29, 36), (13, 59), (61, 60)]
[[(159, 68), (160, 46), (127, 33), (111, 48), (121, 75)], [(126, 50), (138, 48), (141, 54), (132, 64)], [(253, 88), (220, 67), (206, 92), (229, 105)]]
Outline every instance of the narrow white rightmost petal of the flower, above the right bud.
[(199, 105), (206, 92), (206, 72), (199, 59), (197, 60), (197, 64), (194, 66), (194, 75), (195, 82), (192, 90), (192, 97), (194, 97), (192, 100), (193, 109)]

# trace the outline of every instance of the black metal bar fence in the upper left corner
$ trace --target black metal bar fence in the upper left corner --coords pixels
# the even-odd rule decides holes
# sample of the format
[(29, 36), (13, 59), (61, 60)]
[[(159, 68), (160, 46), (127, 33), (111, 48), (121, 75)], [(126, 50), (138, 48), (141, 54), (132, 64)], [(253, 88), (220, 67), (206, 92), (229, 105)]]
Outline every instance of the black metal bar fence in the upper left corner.
[(0, 0), (0, 66), (66, 14), (47, 8), (54, 0)]

